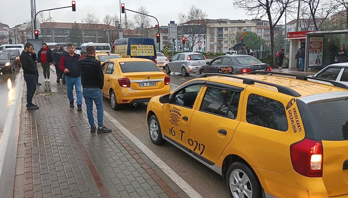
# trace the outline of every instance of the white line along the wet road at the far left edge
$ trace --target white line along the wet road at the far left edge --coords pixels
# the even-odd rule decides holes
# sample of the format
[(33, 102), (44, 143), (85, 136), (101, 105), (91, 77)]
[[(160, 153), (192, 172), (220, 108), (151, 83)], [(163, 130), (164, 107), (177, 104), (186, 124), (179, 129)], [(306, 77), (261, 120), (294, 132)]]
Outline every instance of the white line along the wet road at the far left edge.
[[(20, 70), (20, 71), (22, 72), (22, 70)], [(0, 141), (0, 178), (1, 178), (3, 161), (4, 161), (4, 158), (6, 155), (7, 143), (8, 143), (9, 137), (10, 137), (10, 133), (17, 133), (17, 138), (18, 138), (18, 131), (11, 131), (11, 126), (12, 126), (13, 119), (15, 117), (20, 119), (20, 113), (21, 113), (21, 105), (20, 104), (18, 105), (19, 109), (18, 109), (16, 115), (15, 115), (15, 111), (16, 111), (16, 106), (17, 106), (18, 100), (19, 100), (19, 102), (22, 101), (24, 81), (23, 81), (22, 75), (17, 76), (16, 79), (17, 79), (16, 85), (14, 88), (12, 88), (12, 89), (15, 89), (15, 90), (13, 90), (15, 93), (13, 93), (13, 94), (16, 94), (16, 97), (13, 101), (13, 104), (10, 106), (10, 108), (8, 110), (5, 126), (3, 127), (1, 141)]]

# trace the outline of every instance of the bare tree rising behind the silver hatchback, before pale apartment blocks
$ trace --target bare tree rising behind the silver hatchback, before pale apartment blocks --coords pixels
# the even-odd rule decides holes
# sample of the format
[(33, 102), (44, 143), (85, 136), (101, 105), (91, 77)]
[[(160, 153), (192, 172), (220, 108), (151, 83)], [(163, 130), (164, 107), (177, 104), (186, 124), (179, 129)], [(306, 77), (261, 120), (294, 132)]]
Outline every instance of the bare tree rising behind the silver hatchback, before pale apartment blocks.
[[(207, 35), (208, 23), (205, 20), (207, 17), (208, 15), (205, 11), (194, 5), (190, 7), (187, 14), (183, 12), (179, 13), (178, 19), (181, 26), (179, 25), (178, 29), (183, 29), (187, 37), (185, 45), (192, 51), (193, 47)], [(180, 31), (179, 34), (181, 34)], [(179, 35), (179, 38), (181, 38), (181, 35)]]

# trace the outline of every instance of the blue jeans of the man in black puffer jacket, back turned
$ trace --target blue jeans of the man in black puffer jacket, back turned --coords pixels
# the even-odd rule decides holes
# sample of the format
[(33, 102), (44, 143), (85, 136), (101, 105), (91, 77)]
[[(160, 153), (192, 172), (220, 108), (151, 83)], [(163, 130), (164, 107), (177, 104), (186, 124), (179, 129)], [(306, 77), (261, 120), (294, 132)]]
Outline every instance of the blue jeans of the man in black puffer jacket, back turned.
[(97, 106), (98, 127), (103, 127), (104, 106), (102, 90), (97, 88), (83, 88), (83, 95), (87, 106), (87, 117), (90, 126), (95, 126), (93, 117), (93, 101)]

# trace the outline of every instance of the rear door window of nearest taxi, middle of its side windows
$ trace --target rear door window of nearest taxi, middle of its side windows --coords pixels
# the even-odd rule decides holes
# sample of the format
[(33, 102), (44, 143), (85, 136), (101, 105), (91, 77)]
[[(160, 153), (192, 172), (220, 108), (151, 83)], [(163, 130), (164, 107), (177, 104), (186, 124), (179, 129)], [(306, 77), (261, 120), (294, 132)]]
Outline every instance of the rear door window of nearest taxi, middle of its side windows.
[(237, 117), (239, 97), (240, 92), (207, 87), (200, 111), (235, 119)]

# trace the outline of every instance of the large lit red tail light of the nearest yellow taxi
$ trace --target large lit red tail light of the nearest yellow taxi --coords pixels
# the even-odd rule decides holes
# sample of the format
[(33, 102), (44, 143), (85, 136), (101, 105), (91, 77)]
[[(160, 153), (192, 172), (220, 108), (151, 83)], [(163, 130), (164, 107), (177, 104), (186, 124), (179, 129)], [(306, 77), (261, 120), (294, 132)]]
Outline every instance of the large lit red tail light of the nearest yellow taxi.
[(306, 177), (323, 176), (323, 144), (321, 141), (304, 138), (290, 146), (294, 170)]

